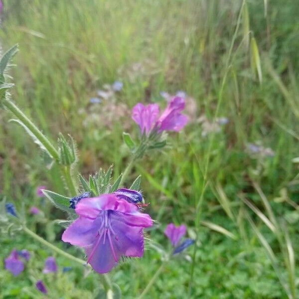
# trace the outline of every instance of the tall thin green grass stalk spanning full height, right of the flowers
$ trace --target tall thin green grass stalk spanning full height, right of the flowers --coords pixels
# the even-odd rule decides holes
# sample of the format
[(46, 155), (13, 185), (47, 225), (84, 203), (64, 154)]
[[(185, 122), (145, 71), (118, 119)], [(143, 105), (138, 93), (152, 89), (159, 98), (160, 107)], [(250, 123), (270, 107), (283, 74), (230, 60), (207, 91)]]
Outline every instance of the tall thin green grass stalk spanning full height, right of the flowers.
[[(238, 33), (238, 30), (239, 30), (239, 27), (240, 27), (242, 11), (243, 11), (243, 7), (244, 7), (245, 3), (246, 3), (246, 0), (243, 0), (241, 8), (240, 8), (239, 15), (238, 15), (234, 35), (232, 37), (232, 41), (231, 41), (230, 48), (229, 48), (229, 51), (228, 51), (228, 56), (227, 56), (227, 60), (226, 60), (226, 63), (225, 63), (224, 75), (223, 75), (221, 88), (220, 88), (219, 95), (218, 95), (218, 103), (217, 103), (214, 119), (217, 118), (219, 108), (220, 108), (220, 105), (222, 103), (223, 90), (224, 90), (224, 86), (225, 86), (225, 83), (226, 83), (226, 78), (227, 78), (227, 74), (228, 74), (228, 71), (229, 71), (229, 64), (230, 64), (230, 60), (231, 60), (231, 56), (232, 56), (232, 51), (233, 51), (233, 47), (234, 47), (234, 44), (235, 44), (235, 41), (236, 41), (236, 38), (237, 38), (237, 33)], [(204, 176), (203, 176), (201, 194), (200, 194), (200, 197), (199, 197), (198, 204), (196, 205), (196, 212), (195, 212), (195, 215), (196, 215), (195, 216), (196, 238), (195, 238), (194, 250), (193, 250), (193, 254), (192, 254), (192, 264), (191, 264), (191, 270), (190, 270), (190, 281), (189, 281), (189, 288), (188, 288), (189, 289), (188, 290), (188, 295), (189, 295), (188, 297), (189, 298), (190, 298), (190, 295), (191, 295), (191, 289), (192, 289), (192, 283), (193, 283), (193, 277), (194, 277), (196, 250), (197, 250), (197, 240), (198, 240), (198, 226), (199, 226), (199, 223), (200, 223), (201, 206), (202, 206), (202, 203), (203, 203), (203, 197), (204, 197), (205, 189), (207, 187), (207, 174), (208, 174), (210, 154), (211, 154), (211, 149), (212, 149), (212, 146), (213, 146), (213, 143), (214, 143), (214, 138), (215, 138), (215, 132), (212, 133), (211, 138), (210, 138), (208, 152), (207, 152), (207, 158), (206, 158), (206, 165), (205, 165), (205, 169), (204, 169)]]

